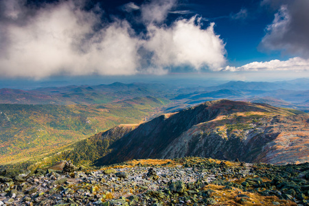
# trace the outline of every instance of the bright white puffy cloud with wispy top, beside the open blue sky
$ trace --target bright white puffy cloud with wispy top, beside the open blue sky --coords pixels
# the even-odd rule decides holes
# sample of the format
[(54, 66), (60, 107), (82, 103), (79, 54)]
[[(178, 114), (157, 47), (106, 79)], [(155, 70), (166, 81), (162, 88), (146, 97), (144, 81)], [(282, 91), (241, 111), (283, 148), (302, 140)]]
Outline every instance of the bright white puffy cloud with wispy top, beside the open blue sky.
[(225, 44), (214, 33), (214, 23), (207, 30), (190, 20), (176, 21), (172, 27), (148, 26), (149, 40), (144, 47), (153, 52), (152, 64), (157, 67), (190, 65), (194, 69), (216, 70), (225, 64)]

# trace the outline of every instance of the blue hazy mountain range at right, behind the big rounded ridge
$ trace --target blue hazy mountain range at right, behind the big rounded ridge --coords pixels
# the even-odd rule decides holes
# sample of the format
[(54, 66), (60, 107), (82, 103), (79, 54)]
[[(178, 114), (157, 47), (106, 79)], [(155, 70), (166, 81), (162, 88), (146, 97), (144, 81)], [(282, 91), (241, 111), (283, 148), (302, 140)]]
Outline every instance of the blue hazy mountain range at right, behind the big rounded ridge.
[(309, 79), (282, 82), (231, 81), (215, 87), (181, 89), (184, 92), (172, 100), (196, 105), (209, 100), (229, 99), (248, 102), (263, 102), (273, 106), (309, 111)]

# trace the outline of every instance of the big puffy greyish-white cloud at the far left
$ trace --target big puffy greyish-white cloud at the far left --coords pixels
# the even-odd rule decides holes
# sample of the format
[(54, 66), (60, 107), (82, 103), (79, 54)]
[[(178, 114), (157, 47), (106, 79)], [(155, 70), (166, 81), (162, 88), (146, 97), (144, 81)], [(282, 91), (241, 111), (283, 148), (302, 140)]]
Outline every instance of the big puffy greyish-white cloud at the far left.
[(74, 37), (91, 32), (95, 19), (72, 3), (62, 3), (51, 10), (40, 10), (27, 25), (6, 26), (10, 45), (1, 56), (1, 73), (7, 76), (43, 77), (66, 70), (78, 60), (71, 45)]

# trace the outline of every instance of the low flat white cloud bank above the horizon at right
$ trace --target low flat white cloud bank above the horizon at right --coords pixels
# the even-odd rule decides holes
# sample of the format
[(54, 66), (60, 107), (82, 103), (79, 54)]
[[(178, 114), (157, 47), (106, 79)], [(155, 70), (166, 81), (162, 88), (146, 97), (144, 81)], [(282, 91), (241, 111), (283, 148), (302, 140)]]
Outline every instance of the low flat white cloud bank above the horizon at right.
[(304, 58), (290, 58), (286, 61), (271, 60), (269, 62), (251, 62), (241, 67), (227, 66), (222, 71), (308, 71), (309, 60)]

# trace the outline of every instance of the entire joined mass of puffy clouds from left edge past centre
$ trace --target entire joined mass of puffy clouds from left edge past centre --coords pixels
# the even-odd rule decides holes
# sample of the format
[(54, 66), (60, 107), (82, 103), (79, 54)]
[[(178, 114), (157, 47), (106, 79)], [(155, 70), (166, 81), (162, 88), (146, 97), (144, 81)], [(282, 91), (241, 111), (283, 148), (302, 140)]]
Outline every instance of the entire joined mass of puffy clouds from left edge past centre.
[(165, 25), (173, 0), (124, 5), (126, 12), (140, 10), (146, 34), (138, 34), (126, 19), (104, 23), (104, 10), (83, 10), (84, 1), (36, 10), (23, 0), (0, 3), (2, 77), (161, 74), (182, 65), (216, 69), (225, 64), (225, 45), (214, 24), (203, 29), (194, 17)]

